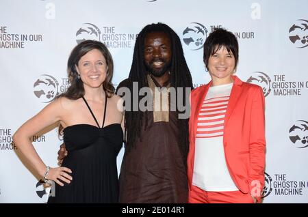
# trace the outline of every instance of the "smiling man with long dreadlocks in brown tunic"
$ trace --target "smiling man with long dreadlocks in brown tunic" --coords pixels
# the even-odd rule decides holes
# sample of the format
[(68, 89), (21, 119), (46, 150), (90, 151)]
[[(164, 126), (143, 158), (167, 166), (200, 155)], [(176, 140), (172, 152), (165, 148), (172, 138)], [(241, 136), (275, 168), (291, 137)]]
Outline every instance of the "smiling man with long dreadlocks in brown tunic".
[[(118, 94), (120, 87), (133, 93), (133, 83), (138, 83), (138, 91), (142, 87), (192, 89), (192, 77), (179, 36), (168, 25), (146, 25), (138, 34), (129, 78), (118, 85)], [(186, 102), (185, 94), (182, 98)], [(170, 100), (168, 102), (170, 108), (172, 105)], [(179, 119), (179, 113), (179, 109), (140, 111), (139, 107), (138, 111), (125, 111), (120, 203), (188, 201), (188, 119)]]

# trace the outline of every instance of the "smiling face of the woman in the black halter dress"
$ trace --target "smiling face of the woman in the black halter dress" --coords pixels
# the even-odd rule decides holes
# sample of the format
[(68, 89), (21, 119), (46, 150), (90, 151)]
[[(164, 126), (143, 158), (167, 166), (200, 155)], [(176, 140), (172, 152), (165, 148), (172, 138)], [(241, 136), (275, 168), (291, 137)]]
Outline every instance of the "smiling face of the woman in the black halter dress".
[(105, 81), (108, 66), (101, 51), (93, 49), (79, 59), (76, 69), (85, 89), (98, 88)]

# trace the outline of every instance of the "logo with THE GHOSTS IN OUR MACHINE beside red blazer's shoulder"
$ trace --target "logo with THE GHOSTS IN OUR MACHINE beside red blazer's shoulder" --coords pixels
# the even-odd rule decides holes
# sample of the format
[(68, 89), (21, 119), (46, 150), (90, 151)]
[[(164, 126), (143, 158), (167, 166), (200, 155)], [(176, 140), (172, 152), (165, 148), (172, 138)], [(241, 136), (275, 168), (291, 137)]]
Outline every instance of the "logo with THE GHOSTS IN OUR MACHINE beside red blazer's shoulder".
[(271, 92), (274, 96), (300, 96), (308, 88), (308, 81), (288, 81), (285, 74), (274, 74), (273, 77), (264, 72), (253, 72), (247, 82), (259, 85), (264, 96)]

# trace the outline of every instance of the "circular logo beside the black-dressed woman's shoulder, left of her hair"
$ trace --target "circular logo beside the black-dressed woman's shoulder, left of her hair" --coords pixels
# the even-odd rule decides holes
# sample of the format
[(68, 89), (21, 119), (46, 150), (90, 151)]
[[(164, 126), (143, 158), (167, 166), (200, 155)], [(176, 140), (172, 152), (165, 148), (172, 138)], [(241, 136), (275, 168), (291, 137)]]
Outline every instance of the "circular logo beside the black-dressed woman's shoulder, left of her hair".
[(58, 94), (59, 83), (48, 74), (42, 74), (33, 85), (34, 95), (40, 99), (40, 102), (51, 102)]

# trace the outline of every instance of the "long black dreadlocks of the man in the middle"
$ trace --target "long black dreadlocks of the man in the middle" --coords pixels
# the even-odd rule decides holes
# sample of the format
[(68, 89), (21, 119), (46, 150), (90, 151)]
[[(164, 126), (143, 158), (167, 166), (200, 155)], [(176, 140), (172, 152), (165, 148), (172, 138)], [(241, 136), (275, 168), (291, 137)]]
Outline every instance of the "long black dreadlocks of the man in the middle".
[[(192, 88), (192, 76), (190, 75), (190, 70), (188, 69), (185, 57), (183, 55), (183, 48), (179, 40), (179, 36), (175, 31), (173, 31), (168, 25), (163, 23), (146, 25), (144, 29), (139, 33), (136, 39), (135, 48), (133, 51), (133, 62), (131, 64), (131, 70), (129, 72), (129, 78), (123, 81), (120, 86), (128, 87), (131, 93), (133, 92), (133, 82), (138, 82), (138, 91), (142, 87), (149, 87), (146, 79), (148, 74), (146, 66), (144, 64), (144, 40), (148, 33), (152, 32), (164, 32), (167, 33), (172, 49), (172, 57), (170, 60), (170, 85), (171, 87), (190, 87)], [(139, 98), (139, 100), (141, 97)], [(183, 94), (183, 102), (185, 103), (185, 93)], [(133, 103), (133, 98), (131, 97), (131, 105)], [(177, 113), (179, 111), (177, 109)], [(125, 134), (126, 134), (126, 149), (129, 151), (131, 147), (135, 146), (136, 139), (140, 139), (140, 132), (142, 128), (142, 120), (146, 112), (140, 111), (127, 111), (125, 112)], [(148, 115), (145, 117), (144, 130), (148, 124)], [(186, 159), (188, 154), (188, 119), (178, 119), (177, 126), (179, 128), (179, 149), (183, 159)]]

